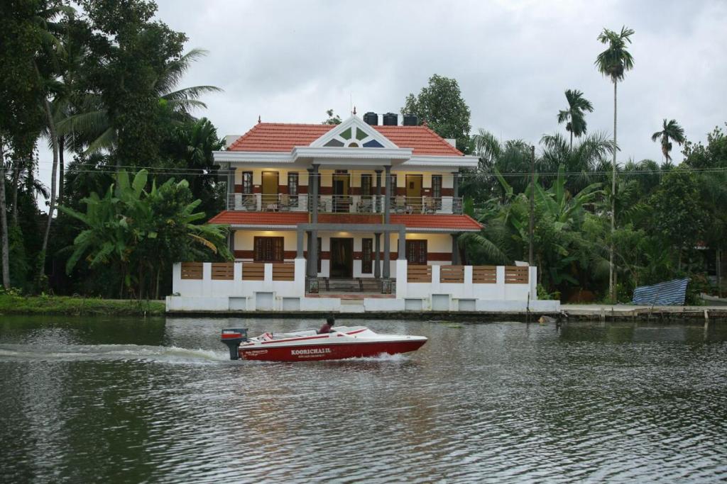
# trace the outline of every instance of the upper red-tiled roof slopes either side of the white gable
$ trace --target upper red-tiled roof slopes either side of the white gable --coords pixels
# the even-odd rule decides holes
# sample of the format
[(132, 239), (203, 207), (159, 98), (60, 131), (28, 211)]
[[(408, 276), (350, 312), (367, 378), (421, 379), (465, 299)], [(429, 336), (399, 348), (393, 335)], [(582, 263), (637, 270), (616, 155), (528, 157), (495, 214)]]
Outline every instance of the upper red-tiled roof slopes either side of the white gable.
[[(427, 126), (372, 126), (400, 148), (411, 148), (414, 155), (462, 156)], [(334, 126), (327, 124), (257, 123), (230, 144), (228, 151), (289, 152), (308, 146)]]

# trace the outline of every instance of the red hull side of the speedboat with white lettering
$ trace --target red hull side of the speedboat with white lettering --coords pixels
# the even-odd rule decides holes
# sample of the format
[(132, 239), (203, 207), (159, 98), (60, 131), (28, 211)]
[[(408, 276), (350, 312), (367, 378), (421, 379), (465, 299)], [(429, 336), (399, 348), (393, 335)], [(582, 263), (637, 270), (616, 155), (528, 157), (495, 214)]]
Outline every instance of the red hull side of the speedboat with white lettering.
[(261, 348), (260, 346), (240, 348), (240, 358), (256, 361), (318, 361), (340, 360), (379, 356), (382, 353), (394, 355), (416, 351), (426, 343), (422, 340), (371, 341), (361, 343), (332, 343), (327, 345), (289, 345)]

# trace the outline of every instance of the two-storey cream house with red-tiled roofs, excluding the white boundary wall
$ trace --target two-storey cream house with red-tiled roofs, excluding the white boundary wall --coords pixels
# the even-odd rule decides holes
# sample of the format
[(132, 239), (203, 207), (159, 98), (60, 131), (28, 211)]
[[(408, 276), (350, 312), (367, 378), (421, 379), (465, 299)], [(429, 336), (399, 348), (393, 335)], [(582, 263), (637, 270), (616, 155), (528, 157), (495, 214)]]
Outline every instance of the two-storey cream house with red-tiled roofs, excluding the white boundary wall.
[(214, 153), (230, 183), (228, 210), (210, 222), (230, 224), (237, 261), (292, 261), (302, 243), (312, 279), (395, 278), (400, 248), (409, 264), (458, 263), (457, 235), (481, 229), (457, 190), (477, 157), (427, 126), (365, 118), (257, 123)]

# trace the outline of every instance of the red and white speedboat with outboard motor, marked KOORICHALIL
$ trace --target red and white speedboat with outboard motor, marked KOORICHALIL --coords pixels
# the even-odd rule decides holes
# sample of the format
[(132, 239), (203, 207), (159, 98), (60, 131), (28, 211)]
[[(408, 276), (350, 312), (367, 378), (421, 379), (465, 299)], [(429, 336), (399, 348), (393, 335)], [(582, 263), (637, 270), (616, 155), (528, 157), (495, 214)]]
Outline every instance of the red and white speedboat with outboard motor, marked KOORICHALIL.
[(222, 343), (230, 359), (259, 361), (340, 360), (361, 356), (409, 353), (427, 343), (424, 336), (379, 335), (365, 326), (338, 326), (319, 335), (315, 329), (289, 333), (264, 333), (247, 337), (247, 329), (223, 329)]

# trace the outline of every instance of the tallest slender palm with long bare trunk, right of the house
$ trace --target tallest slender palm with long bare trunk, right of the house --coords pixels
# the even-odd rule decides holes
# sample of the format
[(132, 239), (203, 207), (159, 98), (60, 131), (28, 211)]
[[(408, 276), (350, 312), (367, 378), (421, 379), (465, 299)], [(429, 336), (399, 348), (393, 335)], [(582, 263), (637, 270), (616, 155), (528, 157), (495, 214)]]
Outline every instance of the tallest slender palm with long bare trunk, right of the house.
[[(634, 30), (626, 28), (624, 25), (621, 28), (621, 33), (616, 33), (613, 30), (603, 29), (603, 32), (598, 36), (598, 41), (602, 44), (607, 44), (608, 49), (598, 54), (595, 59), (595, 65), (603, 75), (611, 78), (614, 83), (614, 146), (616, 144), (616, 86), (619, 81), (623, 81), (624, 73), (627, 70), (632, 70), (634, 67), (634, 60), (631, 54), (626, 50), (626, 44), (631, 44), (631, 36), (634, 34)], [(611, 180), (611, 250), (609, 256), (609, 276), (608, 276), (608, 296), (611, 300), (615, 299), (614, 294), (614, 242), (613, 234), (616, 229), (616, 149), (614, 149), (614, 163), (612, 165), (613, 179)]]

